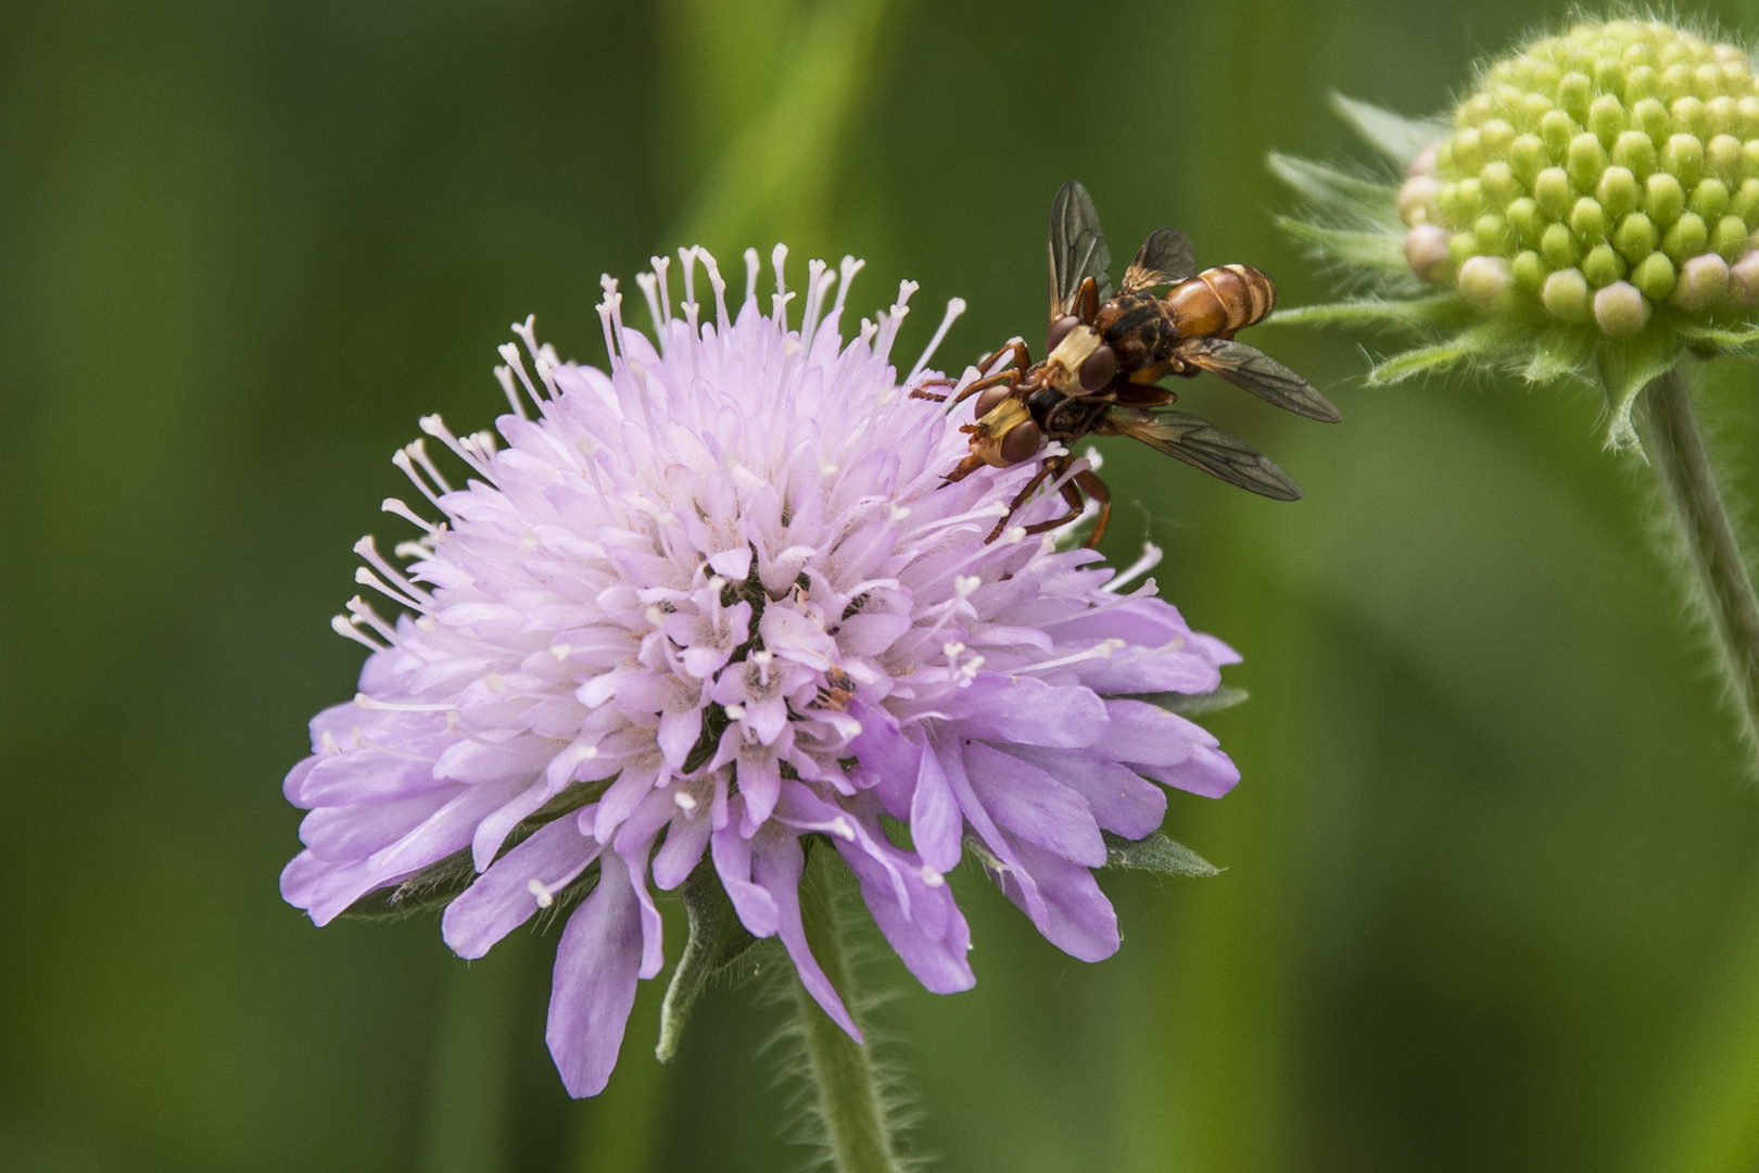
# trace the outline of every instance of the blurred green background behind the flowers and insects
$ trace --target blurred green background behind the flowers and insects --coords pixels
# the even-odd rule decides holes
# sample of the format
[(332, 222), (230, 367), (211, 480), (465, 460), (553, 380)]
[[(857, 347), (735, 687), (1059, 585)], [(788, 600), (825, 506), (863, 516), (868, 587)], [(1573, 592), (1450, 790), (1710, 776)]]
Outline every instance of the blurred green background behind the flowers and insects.
[[(528, 311), (602, 361), (598, 274), (681, 243), (864, 255), (860, 311), (920, 280), (906, 362), (962, 295), (957, 368), (1041, 327), (1071, 176), (1119, 260), (1173, 223), (1316, 301), (1265, 151), (1349, 153), (1332, 90), (1439, 109), (1564, 11), (7, 5), (0, 1169), (790, 1168), (749, 990), (661, 1069), (647, 983), (610, 1090), (570, 1103), (554, 937), (464, 965), (431, 922), (280, 902), (280, 779), (354, 689), (327, 619), (354, 538), (394, 528), (392, 448), (426, 412), (493, 419)], [(1704, 14), (1759, 32), (1750, 0)], [(1228, 871), (1108, 878), (1101, 965), (957, 876), (976, 990), (887, 971), (916, 1147), (971, 1173), (1754, 1168), (1759, 793), (1643, 478), (1587, 396), (1363, 389), (1374, 339), (1254, 341), (1346, 422), (1186, 401), (1305, 501), (1106, 441), (1106, 549), (1166, 545), (1163, 593), (1245, 654), (1252, 702), (1210, 721), (1245, 781), (1168, 818)], [(1755, 371), (1703, 396), (1759, 450)]]

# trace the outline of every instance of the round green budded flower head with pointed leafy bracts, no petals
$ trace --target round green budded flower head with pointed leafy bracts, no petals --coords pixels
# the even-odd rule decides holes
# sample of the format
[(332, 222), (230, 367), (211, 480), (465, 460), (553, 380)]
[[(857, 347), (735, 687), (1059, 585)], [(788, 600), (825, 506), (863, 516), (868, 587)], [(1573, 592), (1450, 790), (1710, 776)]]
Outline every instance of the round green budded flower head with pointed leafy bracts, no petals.
[[(1666, 21), (1581, 23), (1495, 63), (1449, 121), (1340, 113), (1402, 174), (1272, 167), (1314, 208), (1288, 222), (1376, 297), (1284, 315), (1414, 327), (1391, 382), (1483, 357), (1599, 380), (1611, 441), (1680, 350), (1759, 345), (1759, 77), (1747, 53)], [(1434, 334), (1441, 334), (1439, 339)]]

